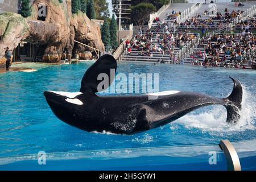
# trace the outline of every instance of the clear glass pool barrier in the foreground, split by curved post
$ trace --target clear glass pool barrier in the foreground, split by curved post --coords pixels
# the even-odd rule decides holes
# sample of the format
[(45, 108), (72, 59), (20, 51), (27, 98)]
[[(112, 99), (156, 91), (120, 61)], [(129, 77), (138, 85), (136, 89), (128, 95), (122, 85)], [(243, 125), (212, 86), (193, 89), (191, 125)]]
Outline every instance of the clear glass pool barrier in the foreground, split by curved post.
[[(256, 140), (233, 142), (242, 170), (256, 169)], [(43, 154), (43, 153), (42, 153)], [(226, 170), (216, 145), (72, 151), (0, 158), (1, 170)]]

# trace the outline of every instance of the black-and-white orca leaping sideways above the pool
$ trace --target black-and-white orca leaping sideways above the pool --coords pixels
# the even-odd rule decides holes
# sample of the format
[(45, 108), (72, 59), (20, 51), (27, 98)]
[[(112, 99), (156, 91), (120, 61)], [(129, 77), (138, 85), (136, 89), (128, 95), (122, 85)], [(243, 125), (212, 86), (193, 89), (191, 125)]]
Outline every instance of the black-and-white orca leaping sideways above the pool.
[[(112, 55), (101, 56), (84, 74), (80, 92), (46, 91), (44, 96), (57, 118), (85, 131), (108, 131), (115, 134), (135, 134), (166, 125), (192, 110), (208, 105), (223, 105), (228, 123), (240, 119), (242, 86), (232, 77), (233, 91), (227, 98), (181, 91), (148, 94), (96, 94), (100, 73), (110, 77), (110, 69), (117, 69)], [(109, 80), (109, 85), (112, 83)], [(104, 88), (106, 89), (106, 88)], [(104, 90), (102, 89), (102, 90)], [(148, 96), (158, 96), (148, 100)]]

